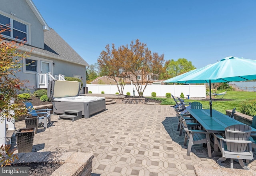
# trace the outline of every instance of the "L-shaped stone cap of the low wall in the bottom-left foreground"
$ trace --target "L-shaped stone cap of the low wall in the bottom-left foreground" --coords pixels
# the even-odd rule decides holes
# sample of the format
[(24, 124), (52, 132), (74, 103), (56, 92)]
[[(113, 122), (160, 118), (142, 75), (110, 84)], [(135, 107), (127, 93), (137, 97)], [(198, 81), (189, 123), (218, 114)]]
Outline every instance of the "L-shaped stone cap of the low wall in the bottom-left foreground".
[(94, 154), (83, 152), (29, 152), (18, 153), (15, 163), (48, 162), (62, 164), (51, 176), (91, 176)]

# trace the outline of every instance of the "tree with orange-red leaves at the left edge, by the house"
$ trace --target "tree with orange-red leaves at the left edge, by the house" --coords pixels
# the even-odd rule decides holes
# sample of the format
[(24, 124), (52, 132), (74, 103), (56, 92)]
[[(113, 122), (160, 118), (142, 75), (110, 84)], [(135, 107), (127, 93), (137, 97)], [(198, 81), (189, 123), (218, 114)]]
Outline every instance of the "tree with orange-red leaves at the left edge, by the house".
[(27, 54), (17, 52), (24, 43), (4, 40), (1, 33), (6, 31), (0, 26), (0, 117), (17, 118), (24, 115), (26, 110), (20, 108), (21, 100), (17, 98), (24, 82), (15, 76), (20, 71), (22, 58)]

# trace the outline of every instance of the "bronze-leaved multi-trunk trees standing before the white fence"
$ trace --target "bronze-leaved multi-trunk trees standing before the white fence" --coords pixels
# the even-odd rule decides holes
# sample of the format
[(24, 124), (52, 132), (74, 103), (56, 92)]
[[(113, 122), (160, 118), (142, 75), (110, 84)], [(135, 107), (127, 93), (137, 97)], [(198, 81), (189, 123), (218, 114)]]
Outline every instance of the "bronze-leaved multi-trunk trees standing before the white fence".
[(115, 81), (120, 94), (123, 94), (125, 80), (130, 80), (138, 94), (143, 96), (151, 78), (162, 72), (164, 54), (152, 54), (147, 45), (138, 39), (132, 41), (130, 46), (122, 45), (116, 49), (114, 44), (112, 48), (108, 44), (105, 48), (106, 51), (102, 51), (98, 58), (101, 74)]

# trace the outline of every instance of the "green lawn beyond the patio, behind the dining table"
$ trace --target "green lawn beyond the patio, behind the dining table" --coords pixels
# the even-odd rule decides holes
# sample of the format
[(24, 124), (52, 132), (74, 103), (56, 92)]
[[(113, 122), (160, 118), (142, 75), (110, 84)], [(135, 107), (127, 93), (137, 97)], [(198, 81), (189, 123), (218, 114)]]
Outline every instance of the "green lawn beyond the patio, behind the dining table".
[[(217, 93), (220, 93), (223, 91), (217, 91)], [(212, 96), (212, 109), (215, 109), (219, 112), (222, 112), (223, 114), (226, 114), (227, 109), (233, 109), (236, 108), (236, 111), (240, 112), (240, 108), (242, 103), (245, 100), (249, 99), (256, 99), (256, 92), (237, 92), (237, 91), (227, 91), (227, 94), (224, 96), (224, 100), (214, 100), (214, 99), (220, 99), (222, 96)], [(150, 97), (157, 100), (161, 100), (161, 104), (165, 105), (174, 105), (175, 102), (172, 98), (156, 98), (156, 97)], [(200, 102), (203, 104), (204, 109), (210, 109), (209, 100), (188, 100), (184, 99), (184, 102)]]

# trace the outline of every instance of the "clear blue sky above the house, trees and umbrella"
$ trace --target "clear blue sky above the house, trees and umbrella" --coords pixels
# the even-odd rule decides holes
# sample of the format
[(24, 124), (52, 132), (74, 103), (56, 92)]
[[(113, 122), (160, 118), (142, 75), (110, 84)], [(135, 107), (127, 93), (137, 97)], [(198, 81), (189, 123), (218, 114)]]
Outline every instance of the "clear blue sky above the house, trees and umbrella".
[(255, 0), (33, 0), (88, 64), (107, 44), (139, 39), (165, 60), (196, 68), (227, 56), (256, 59)]

